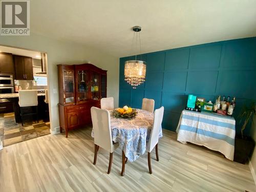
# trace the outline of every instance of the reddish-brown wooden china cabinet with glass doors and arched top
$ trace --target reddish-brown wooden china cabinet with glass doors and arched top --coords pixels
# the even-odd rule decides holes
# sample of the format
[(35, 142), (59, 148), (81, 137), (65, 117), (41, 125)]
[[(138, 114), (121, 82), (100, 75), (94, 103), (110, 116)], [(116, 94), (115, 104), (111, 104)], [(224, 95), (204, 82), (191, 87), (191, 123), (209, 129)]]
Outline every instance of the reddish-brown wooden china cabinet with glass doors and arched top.
[(60, 132), (91, 124), (91, 107), (106, 97), (106, 71), (92, 64), (58, 65)]

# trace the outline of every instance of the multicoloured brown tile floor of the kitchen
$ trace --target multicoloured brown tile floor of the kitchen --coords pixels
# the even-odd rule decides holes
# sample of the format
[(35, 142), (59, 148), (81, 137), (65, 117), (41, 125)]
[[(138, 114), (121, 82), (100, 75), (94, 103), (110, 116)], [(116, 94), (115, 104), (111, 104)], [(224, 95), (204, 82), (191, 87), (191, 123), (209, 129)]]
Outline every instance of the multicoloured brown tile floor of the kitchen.
[(0, 140), (4, 146), (50, 134), (50, 122), (16, 123), (14, 113), (0, 114)]

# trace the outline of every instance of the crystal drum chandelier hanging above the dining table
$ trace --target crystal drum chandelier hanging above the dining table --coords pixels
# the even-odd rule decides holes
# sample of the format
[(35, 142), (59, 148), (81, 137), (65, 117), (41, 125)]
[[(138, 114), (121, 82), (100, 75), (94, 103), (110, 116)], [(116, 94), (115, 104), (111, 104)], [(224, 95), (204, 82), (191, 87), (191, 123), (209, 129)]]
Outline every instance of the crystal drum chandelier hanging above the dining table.
[[(141, 27), (135, 26), (133, 27), (133, 31), (136, 33), (136, 45), (139, 36), (139, 44), (140, 44), (140, 32)], [(141, 55), (141, 45), (140, 45), (140, 55)], [(135, 60), (128, 60), (124, 62), (124, 80), (127, 83), (131, 84), (133, 89), (143, 83), (146, 77), (146, 62), (141, 60), (137, 60), (137, 54), (135, 55)]]

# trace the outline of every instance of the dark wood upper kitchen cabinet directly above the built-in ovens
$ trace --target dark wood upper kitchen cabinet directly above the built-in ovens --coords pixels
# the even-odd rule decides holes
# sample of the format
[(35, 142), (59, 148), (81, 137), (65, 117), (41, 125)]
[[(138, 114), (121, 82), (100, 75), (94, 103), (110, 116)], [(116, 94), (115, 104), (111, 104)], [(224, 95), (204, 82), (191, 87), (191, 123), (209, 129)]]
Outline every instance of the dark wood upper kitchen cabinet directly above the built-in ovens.
[(11, 53), (0, 53), (0, 73), (10, 73), (12, 74), (13, 62)]

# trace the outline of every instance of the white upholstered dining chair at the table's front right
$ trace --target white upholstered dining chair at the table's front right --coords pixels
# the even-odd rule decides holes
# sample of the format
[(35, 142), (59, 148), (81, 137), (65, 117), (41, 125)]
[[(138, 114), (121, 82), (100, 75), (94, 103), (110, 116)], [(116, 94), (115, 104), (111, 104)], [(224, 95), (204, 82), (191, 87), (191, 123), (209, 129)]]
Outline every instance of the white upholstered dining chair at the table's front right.
[(159, 131), (162, 127), (162, 121), (163, 121), (163, 112), (164, 107), (161, 106), (161, 108), (155, 110), (154, 112), (154, 123), (151, 130), (150, 140), (146, 143), (146, 151), (147, 151), (147, 164), (148, 164), (148, 170), (150, 174), (152, 174), (152, 168), (151, 168), (151, 152), (154, 147), (156, 147), (156, 158), (157, 161), (159, 161), (158, 156), (158, 139), (159, 139)]

